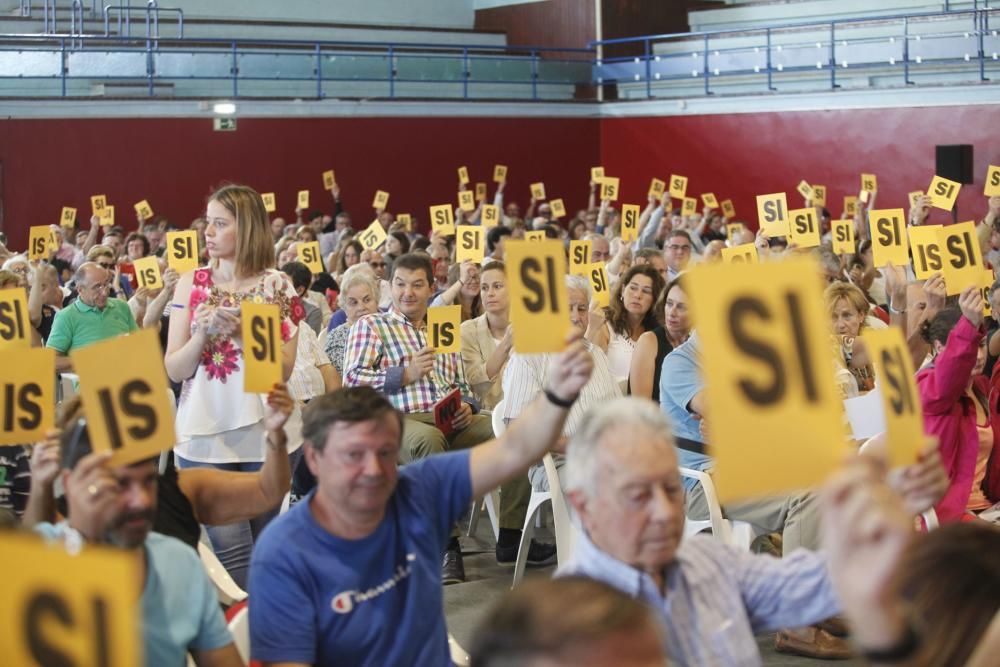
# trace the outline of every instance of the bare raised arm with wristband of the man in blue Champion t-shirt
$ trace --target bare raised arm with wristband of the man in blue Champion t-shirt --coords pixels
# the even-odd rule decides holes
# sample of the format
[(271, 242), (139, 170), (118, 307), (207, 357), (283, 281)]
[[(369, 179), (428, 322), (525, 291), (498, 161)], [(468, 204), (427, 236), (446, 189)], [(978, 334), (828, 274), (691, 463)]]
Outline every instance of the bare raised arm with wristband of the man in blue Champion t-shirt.
[(549, 365), (544, 394), (500, 438), (472, 450), (473, 497), (525, 474), (549, 451), (562, 434), (569, 408), (590, 379), (593, 363), (579, 334), (574, 334), (569, 346)]

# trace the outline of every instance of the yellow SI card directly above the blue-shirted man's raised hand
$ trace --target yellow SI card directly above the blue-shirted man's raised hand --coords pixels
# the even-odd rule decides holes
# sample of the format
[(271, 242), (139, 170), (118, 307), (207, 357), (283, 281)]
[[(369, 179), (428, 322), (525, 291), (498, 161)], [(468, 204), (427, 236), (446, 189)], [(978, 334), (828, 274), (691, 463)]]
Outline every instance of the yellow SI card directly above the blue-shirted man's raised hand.
[(514, 351), (559, 352), (566, 346), (566, 334), (572, 326), (563, 278), (566, 251), (562, 242), (508, 240), (504, 256)]

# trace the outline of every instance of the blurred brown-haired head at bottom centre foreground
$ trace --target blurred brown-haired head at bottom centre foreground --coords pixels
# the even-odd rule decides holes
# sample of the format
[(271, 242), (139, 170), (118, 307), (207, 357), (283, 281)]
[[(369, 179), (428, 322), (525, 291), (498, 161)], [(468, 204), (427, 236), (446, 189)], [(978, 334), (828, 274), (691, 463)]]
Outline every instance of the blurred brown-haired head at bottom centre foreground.
[(658, 626), (649, 607), (594, 579), (526, 581), (507, 593), (480, 623), (469, 648), (472, 667), (573, 664), (602, 640)]

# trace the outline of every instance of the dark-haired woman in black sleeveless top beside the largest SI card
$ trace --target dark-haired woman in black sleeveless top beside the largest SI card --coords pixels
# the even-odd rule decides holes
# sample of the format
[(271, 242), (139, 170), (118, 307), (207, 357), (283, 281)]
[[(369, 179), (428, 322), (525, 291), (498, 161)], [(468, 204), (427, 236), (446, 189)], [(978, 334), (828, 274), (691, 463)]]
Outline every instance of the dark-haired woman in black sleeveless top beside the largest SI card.
[(656, 312), (663, 313), (663, 324), (639, 336), (632, 353), (628, 393), (660, 402), (660, 368), (663, 358), (687, 340), (691, 333), (688, 297), (684, 291), (687, 278), (677, 276), (660, 293)]

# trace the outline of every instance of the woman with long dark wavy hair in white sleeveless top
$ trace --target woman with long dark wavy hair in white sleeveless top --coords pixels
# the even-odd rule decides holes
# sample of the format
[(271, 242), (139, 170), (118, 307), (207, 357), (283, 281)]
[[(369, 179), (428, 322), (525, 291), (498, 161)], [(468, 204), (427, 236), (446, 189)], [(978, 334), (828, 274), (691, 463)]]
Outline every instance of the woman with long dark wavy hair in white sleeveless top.
[(653, 305), (663, 287), (663, 276), (655, 268), (633, 266), (611, 291), (611, 305), (603, 313), (591, 313), (587, 340), (608, 355), (611, 375), (622, 386), (628, 381), (636, 341), (660, 324)]

